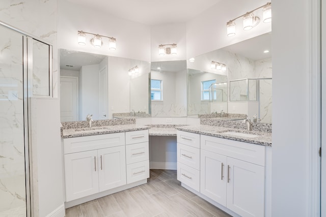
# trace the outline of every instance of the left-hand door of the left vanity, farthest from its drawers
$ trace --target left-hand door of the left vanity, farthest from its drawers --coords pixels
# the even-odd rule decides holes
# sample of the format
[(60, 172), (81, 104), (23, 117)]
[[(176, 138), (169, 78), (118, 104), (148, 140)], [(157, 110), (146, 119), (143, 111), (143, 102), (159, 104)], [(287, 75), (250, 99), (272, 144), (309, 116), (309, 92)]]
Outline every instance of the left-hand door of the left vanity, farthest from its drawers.
[(65, 154), (66, 201), (98, 193), (97, 150)]

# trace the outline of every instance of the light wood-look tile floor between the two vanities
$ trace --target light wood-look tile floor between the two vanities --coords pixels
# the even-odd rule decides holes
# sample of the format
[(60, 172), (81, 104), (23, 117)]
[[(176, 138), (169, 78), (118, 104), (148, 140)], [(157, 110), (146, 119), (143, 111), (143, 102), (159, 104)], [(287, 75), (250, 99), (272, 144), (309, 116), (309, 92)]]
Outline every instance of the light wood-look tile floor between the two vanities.
[(66, 217), (231, 216), (181, 187), (176, 170), (150, 170), (148, 183), (66, 209)]

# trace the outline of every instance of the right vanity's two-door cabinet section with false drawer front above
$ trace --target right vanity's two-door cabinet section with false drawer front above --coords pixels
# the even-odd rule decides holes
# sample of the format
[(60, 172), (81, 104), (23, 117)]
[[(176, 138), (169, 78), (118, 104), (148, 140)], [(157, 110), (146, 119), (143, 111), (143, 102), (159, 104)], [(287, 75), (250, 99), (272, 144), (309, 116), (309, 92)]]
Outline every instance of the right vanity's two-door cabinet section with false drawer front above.
[(241, 216), (264, 216), (264, 146), (201, 135), (200, 172), (200, 193)]

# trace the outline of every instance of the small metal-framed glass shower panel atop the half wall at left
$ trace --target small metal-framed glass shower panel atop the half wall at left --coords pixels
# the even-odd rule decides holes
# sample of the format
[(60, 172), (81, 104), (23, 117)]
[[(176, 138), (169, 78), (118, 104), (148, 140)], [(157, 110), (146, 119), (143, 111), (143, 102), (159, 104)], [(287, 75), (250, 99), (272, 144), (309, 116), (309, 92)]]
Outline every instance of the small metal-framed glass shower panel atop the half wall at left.
[(50, 46), (33, 39), (33, 95), (50, 96)]

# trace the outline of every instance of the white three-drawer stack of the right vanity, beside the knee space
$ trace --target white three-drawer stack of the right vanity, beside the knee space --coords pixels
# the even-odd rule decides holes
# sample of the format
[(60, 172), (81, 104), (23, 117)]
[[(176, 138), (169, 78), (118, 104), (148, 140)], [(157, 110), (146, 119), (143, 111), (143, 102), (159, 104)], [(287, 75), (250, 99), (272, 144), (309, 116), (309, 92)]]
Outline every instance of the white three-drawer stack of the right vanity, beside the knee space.
[(192, 189), (200, 189), (200, 135), (178, 131), (177, 179)]

